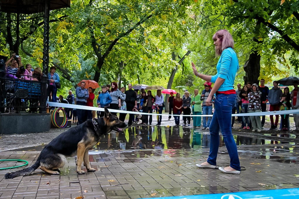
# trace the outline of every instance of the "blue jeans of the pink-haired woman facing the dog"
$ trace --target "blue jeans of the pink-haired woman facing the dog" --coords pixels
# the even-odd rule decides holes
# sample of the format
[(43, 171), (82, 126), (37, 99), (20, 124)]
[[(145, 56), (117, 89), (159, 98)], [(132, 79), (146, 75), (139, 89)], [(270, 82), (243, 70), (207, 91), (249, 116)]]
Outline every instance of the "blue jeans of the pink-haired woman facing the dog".
[(240, 161), (233, 134), (231, 133), (231, 109), (236, 103), (236, 94), (217, 94), (215, 99), (215, 111), (210, 124), (210, 154), (207, 162), (216, 165), (219, 148), (219, 129), (231, 159), (230, 166), (238, 171)]

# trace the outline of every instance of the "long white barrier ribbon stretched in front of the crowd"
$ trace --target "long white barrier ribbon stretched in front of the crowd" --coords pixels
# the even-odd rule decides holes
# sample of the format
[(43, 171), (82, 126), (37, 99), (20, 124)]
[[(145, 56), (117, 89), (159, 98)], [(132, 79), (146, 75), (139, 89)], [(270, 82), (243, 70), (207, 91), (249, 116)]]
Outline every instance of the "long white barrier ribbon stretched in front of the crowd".
[[(94, 110), (94, 111), (104, 111), (104, 108), (99, 107), (88, 107), (82, 105), (74, 105), (74, 104), (64, 104), (58, 102), (47, 102), (47, 104), (51, 107), (65, 107), (65, 108), (73, 108), (73, 109), (85, 109), (85, 110)], [(141, 115), (162, 115), (169, 116), (169, 114), (158, 114), (158, 113), (144, 113), (144, 112), (134, 112), (134, 111), (123, 111), (123, 110), (115, 110), (108, 109), (109, 112), (116, 113), (131, 113), (131, 114), (141, 114)], [(289, 115), (289, 114), (299, 114), (299, 109), (286, 110), (286, 111), (268, 111), (268, 112), (253, 112), (253, 113), (238, 113), (232, 114), (231, 116), (262, 116), (262, 115)], [(172, 116), (191, 116), (191, 117), (212, 117), (213, 115), (172, 115)]]

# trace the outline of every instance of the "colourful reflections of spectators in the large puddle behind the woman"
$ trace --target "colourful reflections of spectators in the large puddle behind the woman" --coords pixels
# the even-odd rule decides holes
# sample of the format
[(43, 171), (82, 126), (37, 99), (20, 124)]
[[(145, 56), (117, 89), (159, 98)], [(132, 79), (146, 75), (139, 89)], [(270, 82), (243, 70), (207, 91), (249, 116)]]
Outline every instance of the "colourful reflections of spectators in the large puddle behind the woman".
[[(237, 145), (270, 144), (271, 140), (263, 139), (267, 135), (234, 135)], [(295, 135), (290, 135), (294, 137)], [(280, 138), (280, 137), (277, 137)], [(219, 146), (225, 146), (219, 136)], [(293, 144), (283, 142), (284, 144)], [(123, 132), (112, 132), (103, 136), (94, 149), (203, 149), (210, 148), (210, 133), (193, 127), (181, 126), (136, 126), (124, 129)]]

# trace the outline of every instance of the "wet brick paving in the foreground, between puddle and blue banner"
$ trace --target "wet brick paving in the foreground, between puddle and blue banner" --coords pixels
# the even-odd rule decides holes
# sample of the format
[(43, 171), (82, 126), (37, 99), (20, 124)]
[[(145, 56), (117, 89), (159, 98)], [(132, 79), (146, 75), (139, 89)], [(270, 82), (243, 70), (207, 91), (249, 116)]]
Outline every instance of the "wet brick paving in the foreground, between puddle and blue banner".
[[(238, 147), (240, 175), (195, 166), (208, 156), (207, 149), (91, 151), (96, 172), (77, 175), (75, 158), (60, 176), (37, 169), (33, 175), (5, 180), (0, 171), (0, 198), (151, 198), (299, 187), (299, 147)], [(39, 152), (4, 151), (0, 159), (26, 159), (31, 165)], [(220, 148), (218, 165), (229, 157)], [(0, 167), (12, 166), (1, 163)], [(14, 169), (16, 170), (16, 169)], [(152, 196), (151, 196), (152, 195)]]

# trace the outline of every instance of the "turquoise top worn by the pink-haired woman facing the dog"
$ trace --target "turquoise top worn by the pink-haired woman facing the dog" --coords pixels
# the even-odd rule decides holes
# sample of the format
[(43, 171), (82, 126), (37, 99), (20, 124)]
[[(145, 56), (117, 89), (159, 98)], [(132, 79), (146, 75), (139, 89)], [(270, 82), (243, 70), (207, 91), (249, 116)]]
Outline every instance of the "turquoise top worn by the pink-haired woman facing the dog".
[(239, 61), (236, 52), (232, 48), (229, 47), (223, 50), (216, 69), (217, 74), (212, 76), (211, 82), (215, 83), (218, 77), (224, 79), (224, 82), (219, 87), (218, 91), (234, 89), (235, 76), (239, 70)]

